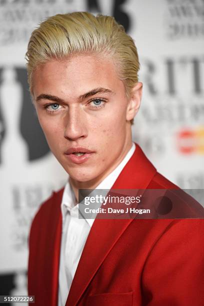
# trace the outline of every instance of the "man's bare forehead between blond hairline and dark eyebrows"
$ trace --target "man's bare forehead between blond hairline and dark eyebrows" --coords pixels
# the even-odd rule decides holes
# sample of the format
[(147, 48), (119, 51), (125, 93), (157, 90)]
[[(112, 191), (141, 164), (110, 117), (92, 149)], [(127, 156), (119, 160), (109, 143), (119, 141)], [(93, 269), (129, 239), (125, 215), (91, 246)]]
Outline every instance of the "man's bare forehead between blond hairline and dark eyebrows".
[(110, 57), (80, 54), (63, 60), (49, 60), (33, 72), (34, 96), (40, 93), (78, 95), (92, 88), (124, 90), (116, 67)]

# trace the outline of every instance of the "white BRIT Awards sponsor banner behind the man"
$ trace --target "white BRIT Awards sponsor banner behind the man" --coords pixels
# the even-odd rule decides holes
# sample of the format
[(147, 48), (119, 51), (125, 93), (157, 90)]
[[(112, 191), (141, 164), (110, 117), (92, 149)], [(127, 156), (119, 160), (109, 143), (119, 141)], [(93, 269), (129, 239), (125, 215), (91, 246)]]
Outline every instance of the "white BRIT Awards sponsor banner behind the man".
[(81, 10), (113, 15), (135, 41), (143, 97), (133, 140), (180, 187), (204, 187), (203, 0), (0, 0), (0, 294), (26, 294), (31, 219), (67, 179), (31, 104), (27, 42), (45, 17)]

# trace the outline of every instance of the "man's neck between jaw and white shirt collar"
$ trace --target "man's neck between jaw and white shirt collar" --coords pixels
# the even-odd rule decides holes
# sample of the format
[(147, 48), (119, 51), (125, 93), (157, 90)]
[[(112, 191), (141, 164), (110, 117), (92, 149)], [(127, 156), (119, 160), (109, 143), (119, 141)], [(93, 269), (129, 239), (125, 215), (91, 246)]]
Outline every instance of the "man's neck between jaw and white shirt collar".
[(97, 177), (88, 181), (78, 181), (69, 177), (69, 182), (71, 184), (77, 202), (78, 202), (78, 189), (94, 189), (97, 185), (99, 185), (99, 183), (118, 166), (118, 164), (122, 161), (122, 159), (125, 157), (127, 152), (130, 150), (131, 146), (132, 146), (132, 140), (130, 139), (130, 141), (128, 141), (128, 144), (124, 146), (122, 153), (120, 154), (119, 158), (114, 162), (114, 164), (111, 167), (109, 167), (108, 170), (105, 169), (104, 172), (98, 175)]

